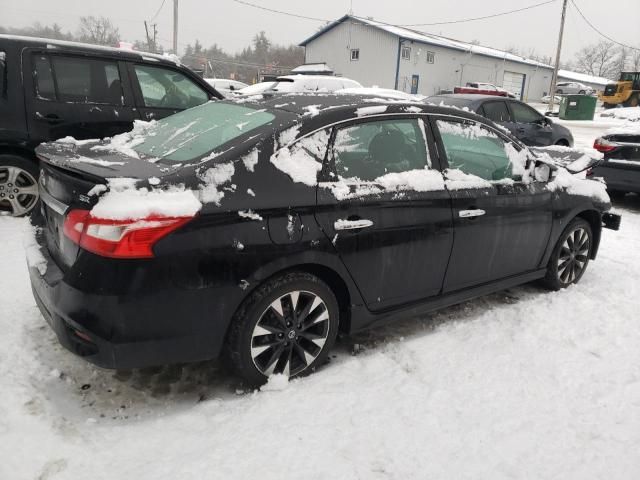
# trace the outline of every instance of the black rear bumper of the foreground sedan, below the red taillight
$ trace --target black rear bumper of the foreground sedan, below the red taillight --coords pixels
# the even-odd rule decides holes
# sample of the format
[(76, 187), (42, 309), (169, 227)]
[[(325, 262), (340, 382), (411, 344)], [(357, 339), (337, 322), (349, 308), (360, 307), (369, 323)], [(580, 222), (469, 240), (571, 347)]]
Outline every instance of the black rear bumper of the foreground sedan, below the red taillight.
[(207, 316), (185, 318), (193, 308), (183, 302), (190, 297), (193, 303), (193, 292), (167, 295), (163, 291), (164, 301), (83, 292), (65, 281), (46, 248), (41, 247), (41, 252), (46, 259), (44, 274), (36, 266), (29, 267), (33, 296), (60, 344), (72, 353), (111, 369), (194, 362), (219, 355), (227, 322), (216, 318), (211, 305), (203, 306), (209, 310)]

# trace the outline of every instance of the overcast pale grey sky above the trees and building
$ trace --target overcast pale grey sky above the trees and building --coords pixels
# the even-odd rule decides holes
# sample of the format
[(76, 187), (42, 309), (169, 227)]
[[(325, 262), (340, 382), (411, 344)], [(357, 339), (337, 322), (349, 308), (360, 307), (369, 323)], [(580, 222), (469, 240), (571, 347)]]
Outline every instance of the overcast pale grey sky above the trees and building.
[[(347, 13), (350, 0), (250, 0), (279, 10), (305, 16), (337, 19)], [(394, 24), (429, 23), (478, 17), (540, 3), (543, 0), (353, 0), (359, 16)], [(640, 45), (640, 0), (573, 0), (601, 31), (622, 43)], [(79, 17), (104, 15), (120, 29), (123, 39), (144, 39), (145, 19), (156, 13), (162, 0), (0, 0), (0, 25), (23, 27), (35, 21), (57, 22), (64, 30), (77, 29)], [(415, 27), (463, 41), (478, 40), (496, 48), (531, 48), (540, 55), (554, 55), (562, 0), (528, 11), (490, 20)], [(155, 22), (158, 37), (171, 46), (173, 0), (165, 0)], [(233, 0), (180, 0), (180, 48), (198, 38), (209, 46), (217, 43), (230, 53), (248, 45), (253, 35), (264, 30), (276, 43), (299, 43), (312, 35), (321, 22), (297, 19), (250, 8)], [(569, 0), (563, 60), (570, 61), (582, 46), (601, 37), (578, 15)]]

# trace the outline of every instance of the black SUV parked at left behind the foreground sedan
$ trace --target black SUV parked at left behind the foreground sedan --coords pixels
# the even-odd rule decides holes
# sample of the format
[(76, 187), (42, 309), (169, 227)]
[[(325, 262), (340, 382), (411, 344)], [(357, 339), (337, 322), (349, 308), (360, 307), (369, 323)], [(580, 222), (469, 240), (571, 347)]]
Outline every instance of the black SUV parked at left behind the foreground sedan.
[(171, 57), (0, 35), (0, 213), (36, 205), (39, 143), (109, 137), (212, 98), (222, 96)]

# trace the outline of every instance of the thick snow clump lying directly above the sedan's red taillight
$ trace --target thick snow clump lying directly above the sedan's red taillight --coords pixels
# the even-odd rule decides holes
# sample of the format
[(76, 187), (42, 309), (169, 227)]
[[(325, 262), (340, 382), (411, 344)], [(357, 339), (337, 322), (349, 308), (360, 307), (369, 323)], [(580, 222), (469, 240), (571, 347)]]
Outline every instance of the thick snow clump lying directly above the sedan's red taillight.
[(91, 209), (96, 218), (138, 220), (150, 216), (187, 217), (202, 204), (192, 190), (173, 186), (164, 190), (136, 188), (135, 179), (108, 179), (109, 191)]

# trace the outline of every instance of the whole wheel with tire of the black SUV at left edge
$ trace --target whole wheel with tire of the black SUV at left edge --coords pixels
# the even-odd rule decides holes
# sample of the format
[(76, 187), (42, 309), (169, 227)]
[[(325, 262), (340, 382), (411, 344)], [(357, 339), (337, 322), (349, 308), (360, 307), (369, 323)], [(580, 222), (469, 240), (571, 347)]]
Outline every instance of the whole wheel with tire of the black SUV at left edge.
[(23, 217), (38, 205), (39, 170), (35, 162), (11, 154), (0, 155), (0, 213)]

